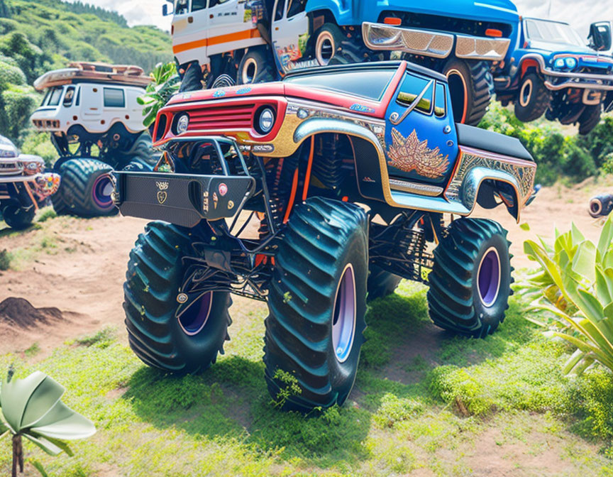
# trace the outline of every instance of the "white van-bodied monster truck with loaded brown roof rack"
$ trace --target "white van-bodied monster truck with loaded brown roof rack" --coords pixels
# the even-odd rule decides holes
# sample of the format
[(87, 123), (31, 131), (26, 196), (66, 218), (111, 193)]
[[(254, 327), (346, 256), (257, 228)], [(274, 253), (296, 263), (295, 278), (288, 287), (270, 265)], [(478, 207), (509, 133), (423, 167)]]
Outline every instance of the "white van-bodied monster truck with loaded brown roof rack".
[(58, 214), (116, 214), (109, 172), (126, 167), (151, 170), (159, 158), (143, 126), (136, 99), (150, 78), (136, 66), (71, 63), (38, 78), (47, 89), (31, 117), (38, 131), (49, 132), (60, 158), (53, 170), (62, 176), (52, 197)]

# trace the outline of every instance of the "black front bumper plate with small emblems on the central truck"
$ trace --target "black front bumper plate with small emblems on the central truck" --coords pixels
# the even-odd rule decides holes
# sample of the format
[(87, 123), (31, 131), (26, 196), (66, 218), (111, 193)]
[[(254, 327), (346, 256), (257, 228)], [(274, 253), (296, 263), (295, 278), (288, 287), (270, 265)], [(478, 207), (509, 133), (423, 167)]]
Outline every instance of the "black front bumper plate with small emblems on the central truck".
[(114, 172), (116, 205), (121, 214), (193, 227), (201, 219), (219, 220), (241, 212), (255, 190), (245, 176), (162, 172)]

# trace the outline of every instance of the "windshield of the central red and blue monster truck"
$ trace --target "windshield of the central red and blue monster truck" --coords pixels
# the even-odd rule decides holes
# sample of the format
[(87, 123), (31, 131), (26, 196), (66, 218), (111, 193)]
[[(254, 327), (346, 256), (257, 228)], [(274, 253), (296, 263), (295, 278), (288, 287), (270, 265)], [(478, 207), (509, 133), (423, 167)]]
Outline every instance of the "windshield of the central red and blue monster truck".
[(396, 70), (351, 70), (328, 72), (322, 75), (289, 76), (284, 82), (300, 84), (341, 93), (355, 94), (379, 101)]

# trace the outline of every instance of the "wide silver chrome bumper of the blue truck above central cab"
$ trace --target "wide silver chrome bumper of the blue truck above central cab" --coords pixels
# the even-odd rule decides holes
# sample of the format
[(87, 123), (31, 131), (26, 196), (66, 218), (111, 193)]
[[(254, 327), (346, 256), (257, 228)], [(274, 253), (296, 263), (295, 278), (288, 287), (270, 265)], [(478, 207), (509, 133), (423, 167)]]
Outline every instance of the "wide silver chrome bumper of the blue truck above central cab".
[(364, 43), (371, 50), (399, 50), (412, 55), (446, 58), (455, 43), (455, 56), (467, 60), (502, 61), (511, 40), (443, 33), (386, 25), (362, 23)]

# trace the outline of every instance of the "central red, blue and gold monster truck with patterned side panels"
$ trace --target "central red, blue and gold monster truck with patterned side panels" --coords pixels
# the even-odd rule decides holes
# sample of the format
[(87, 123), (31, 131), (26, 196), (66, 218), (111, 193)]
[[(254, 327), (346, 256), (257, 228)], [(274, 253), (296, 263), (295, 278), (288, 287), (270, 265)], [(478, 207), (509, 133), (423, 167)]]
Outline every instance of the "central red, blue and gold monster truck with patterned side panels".
[(121, 213), (160, 220), (128, 263), (133, 351), (202, 371), (229, 339), (230, 295), (265, 300), (268, 388), (279, 397), (291, 376), (283, 405), (309, 412), (346, 400), (366, 300), (400, 278), (429, 284), (439, 327), (494, 332), (507, 231), (468, 216), (502, 205), (519, 220), (536, 164), (517, 139), (455, 124), (450, 104), (444, 75), (405, 61), (175, 95), (156, 119), (154, 172), (114, 174)]

